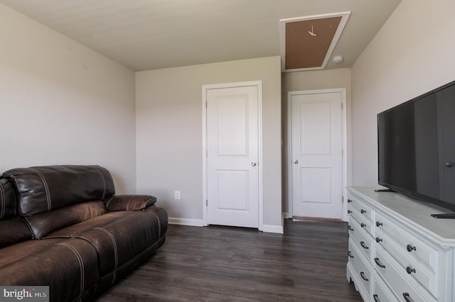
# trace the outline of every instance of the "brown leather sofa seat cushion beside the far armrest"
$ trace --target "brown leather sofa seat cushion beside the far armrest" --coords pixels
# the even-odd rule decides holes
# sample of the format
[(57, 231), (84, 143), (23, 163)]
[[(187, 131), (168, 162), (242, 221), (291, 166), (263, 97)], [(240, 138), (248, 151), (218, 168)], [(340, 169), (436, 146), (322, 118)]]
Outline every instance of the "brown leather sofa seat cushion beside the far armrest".
[(167, 225), (167, 220), (160, 221), (153, 211), (119, 211), (58, 230), (48, 237), (77, 237), (90, 242), (98, 252), (103, 276), (115, 272), (164, 237), (163, 223)]

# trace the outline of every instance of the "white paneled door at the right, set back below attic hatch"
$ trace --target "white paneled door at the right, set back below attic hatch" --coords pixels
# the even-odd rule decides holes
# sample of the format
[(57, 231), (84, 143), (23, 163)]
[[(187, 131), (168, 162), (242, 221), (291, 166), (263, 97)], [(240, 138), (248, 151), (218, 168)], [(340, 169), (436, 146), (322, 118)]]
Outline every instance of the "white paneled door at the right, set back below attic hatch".
[(292, 215), (343, 218), (342, 94), (289, 92)]

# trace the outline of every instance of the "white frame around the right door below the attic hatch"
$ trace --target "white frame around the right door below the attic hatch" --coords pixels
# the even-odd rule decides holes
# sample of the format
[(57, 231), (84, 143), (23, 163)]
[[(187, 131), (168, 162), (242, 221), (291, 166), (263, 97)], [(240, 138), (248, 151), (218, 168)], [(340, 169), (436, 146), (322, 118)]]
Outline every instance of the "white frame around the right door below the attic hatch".
[(292, 218), (292, 104), (291, 96), (299, 94), (328, 94), (333, 92), (341, 92), (341, 104), (343, 106), (341, 111), (341, 123), (343, 131), (343, 221), (348, 220), (348, 191), (346, 186), (348, 185), (348, 139), (347, 139), (347, 126), (346, 126), (346, 88), (336, 89), (316, 89), (316, 90), (302, 90), (302, 91), (288, 91), (287, 93), (287, 204), (288, 204), (288, 216)]

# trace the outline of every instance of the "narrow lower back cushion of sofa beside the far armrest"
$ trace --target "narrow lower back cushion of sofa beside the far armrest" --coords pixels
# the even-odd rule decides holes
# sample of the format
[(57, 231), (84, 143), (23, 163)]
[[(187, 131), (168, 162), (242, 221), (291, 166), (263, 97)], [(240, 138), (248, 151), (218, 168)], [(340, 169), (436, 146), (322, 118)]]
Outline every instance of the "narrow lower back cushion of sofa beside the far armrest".
[(55, 230), (90, 220), (105, 213), (107, 213), (105, 203), (102, 201), (88, 201), (58, 208), (50, 212), (26, 216), (23, 219), (30, 225), (33, 237), (39, 239)]

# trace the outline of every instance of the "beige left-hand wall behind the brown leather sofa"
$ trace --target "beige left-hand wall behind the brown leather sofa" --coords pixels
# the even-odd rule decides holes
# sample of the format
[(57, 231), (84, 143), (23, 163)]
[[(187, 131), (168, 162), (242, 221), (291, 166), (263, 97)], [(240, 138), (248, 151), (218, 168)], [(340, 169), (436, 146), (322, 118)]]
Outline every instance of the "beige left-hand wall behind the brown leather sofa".
[(0, 41), (0, 172), (100, 164), (134, 193), (134, 72), (3, 4)]

